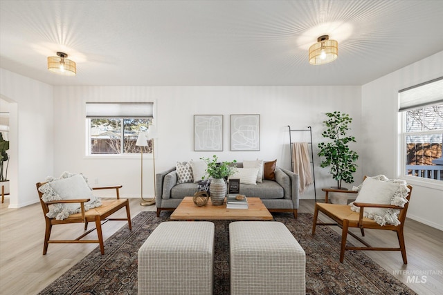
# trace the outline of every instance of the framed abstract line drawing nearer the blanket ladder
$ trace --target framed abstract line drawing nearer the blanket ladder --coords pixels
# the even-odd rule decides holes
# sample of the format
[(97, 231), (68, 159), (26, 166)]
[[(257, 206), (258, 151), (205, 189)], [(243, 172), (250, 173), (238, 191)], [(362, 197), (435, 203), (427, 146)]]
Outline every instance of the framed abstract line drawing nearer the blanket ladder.
[(260, 151), (260, 115), (230, 115), (230, 150)]

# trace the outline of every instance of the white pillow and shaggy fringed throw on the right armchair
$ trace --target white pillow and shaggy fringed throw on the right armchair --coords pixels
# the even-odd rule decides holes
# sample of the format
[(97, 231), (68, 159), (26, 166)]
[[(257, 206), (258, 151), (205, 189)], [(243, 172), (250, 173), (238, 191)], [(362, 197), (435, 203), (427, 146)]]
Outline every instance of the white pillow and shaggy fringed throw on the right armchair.
[[(354, 202), (371, 204), (392, 204), (403, 207), (408, 200), (408, 187), (406, 182), (399, 180), (389, 180), (379, 175), (374, 178), (365, 178), (361, 184), (359, 195)], [(359, 212), (360, 207), (351, 203), (352, 211)], [(363, 216), (375, 220), (379, 225), (399, 225), (399, 209), (364, 208)]]

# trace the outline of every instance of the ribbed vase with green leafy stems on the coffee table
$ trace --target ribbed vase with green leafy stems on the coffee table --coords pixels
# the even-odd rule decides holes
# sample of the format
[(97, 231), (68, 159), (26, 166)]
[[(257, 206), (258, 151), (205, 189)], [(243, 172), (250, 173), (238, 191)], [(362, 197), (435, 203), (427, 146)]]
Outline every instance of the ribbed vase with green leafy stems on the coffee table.
[[(233, 175), (237, 168), (235, 166), (236, 160), (233, 162), (218, 162), (217, 155), (213, 155), (213, 158), (200, 158), (208, 164), (206, 173), (212, 178), (209, 186), (210, 200), (215, 206), (220, 206), (224, 202), (226, 196), (226, 182), (225, 178)], [(202, 178), (204, 179), (204, 178)]]

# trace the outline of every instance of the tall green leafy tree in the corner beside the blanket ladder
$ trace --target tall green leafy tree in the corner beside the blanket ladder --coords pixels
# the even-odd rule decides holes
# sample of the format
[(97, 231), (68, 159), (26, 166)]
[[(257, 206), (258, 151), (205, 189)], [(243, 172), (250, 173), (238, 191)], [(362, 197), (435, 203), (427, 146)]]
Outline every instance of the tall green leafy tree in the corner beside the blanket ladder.
[(357, 164), (355, 162), (359, 158), (359, 155), (347, 145), (349, 142), (356, 142), (354, 136), (347, 135), (352, 118), (339, 111), (326, 113), (326, 115), (328, 119), (323, 121), (323, 124), (327, 129), (323, 131), (322, 135), (330, 141), (318, 144), (318, 148), (320, 148), (318, 155), (324, 157), (320, 166), (331, 167), (329, 173), (337, 181), (337, 188), (342, 189), (342, 181), (354, 182), (352, 174), (356, 171)]

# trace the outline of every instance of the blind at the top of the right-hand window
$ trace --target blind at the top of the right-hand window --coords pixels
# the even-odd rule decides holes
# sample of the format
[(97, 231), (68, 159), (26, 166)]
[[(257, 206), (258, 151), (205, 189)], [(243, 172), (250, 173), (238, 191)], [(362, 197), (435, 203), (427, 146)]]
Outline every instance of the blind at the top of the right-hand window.
[(399, 112), (443, 104), (443, 77), (399, 91)]

